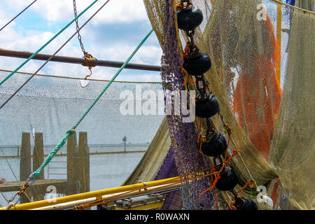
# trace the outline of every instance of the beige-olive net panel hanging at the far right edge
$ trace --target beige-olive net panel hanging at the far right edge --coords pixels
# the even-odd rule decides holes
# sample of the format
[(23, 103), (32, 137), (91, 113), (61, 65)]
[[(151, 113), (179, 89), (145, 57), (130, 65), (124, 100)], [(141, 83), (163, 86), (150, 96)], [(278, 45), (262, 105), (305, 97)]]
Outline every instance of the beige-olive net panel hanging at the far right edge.
[(291, 10), (288, 67), (270, 164), (297, 209), (315, 208), (314, 14)]

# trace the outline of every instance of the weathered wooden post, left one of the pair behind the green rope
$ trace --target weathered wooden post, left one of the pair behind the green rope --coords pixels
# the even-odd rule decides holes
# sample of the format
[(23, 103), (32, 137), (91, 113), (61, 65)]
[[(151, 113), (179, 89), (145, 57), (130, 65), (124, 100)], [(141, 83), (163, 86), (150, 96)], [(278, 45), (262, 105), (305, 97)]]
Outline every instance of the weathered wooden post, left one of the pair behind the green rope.
[(78, 144), (76, 133), (73, 133), (66, 143), (66, 195), (78, 194)]

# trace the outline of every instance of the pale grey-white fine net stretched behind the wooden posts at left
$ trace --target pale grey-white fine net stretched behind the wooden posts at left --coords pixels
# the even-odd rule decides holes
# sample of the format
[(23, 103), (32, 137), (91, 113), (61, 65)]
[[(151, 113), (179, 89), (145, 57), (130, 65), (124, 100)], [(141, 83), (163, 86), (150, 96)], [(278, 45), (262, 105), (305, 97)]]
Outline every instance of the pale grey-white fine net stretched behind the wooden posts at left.
[[(10, 71), (0, 71), (0, 80)], [(29, 78), (29, 73), (15, 73), (0, 88), (0, 104)], [(45, 157), (82, 116), (109, 81), (36, 75), (0, 110), (0, 178), (6, 181), (26, 181), (20, 178), (22, 132), (29, 132), (31, 154), (36, 132), (43, 133)], [(84, 83), (86, 85), (87, 83)], [(164, 116), (158, 96), (161, 83), (114, 82), (78, 126), (77, 133), (87, 132), (90, 149), (90, 190), (120, 186), (145, 154)], [(159, 110), (162, 111), (159, 115)], [(123, 137), (127, 137), (126, 148)], [(79, 140), (79, 138), (78, 138)], [(76, 143), (76, 145), (79, 145)], [(66, 179), (67, 146), (64, 146), (45, 167), (45, 179)], [(127, 153), (117, 154), (117, 152)], [(128, 153), (134, 151), (133, 153)], [(136, 152), (139, 151), (139, 152)], [(166, 155), (167, 151), (165, 152)], [(156, 155), (163, 160), (163, 153)], [(164, 157), (163, 157), (164, 156)], [(126, 162), (129, 161), (129, 162)], [(157, 165), (160, 164), (160, 161)], [(54, 168), (55, 167), (55, 168)], [(61, 168), (56, 168), (61, 167)], [(31, 174), (31, 170), (21, 167)], [(34, 170), (38, 167), (34, 167)], [(78, 166), (73, 166), (76, 170)], [(20, 180), (21, 179), (21, 180)], [(31, 189), (27, 190), (29, 197)], [(3, 193), (10, 199), (16, 192)], [(49, 193), (49, 191), (48, 191)], [(59, 193), (59, 192), (58, 192)], [(11, 196), (10, 196), (11, 195)], [(29, 201), (27, 201), (29, 202)], [(0, 204), (5, 206), (0, 195)]]

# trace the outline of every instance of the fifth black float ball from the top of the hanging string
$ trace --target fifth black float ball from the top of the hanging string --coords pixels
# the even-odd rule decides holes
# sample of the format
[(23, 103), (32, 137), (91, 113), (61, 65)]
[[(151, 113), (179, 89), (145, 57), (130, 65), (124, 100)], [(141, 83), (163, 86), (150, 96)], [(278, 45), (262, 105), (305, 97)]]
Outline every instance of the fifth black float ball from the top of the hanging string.
[(218, 190), (231, 190), (239, 183), (239, 176), (231, 167), (225, 167), (225, 172), (221, 174), (221, 178), (216, 182)]

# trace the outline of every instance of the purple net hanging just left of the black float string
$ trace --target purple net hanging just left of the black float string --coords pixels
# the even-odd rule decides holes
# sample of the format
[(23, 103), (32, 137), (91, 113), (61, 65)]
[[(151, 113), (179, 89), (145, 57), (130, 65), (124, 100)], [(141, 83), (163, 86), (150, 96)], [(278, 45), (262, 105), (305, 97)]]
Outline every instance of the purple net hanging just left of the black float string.
[[(181, 66), (183, 61), (176, 35), (175, 13), (173, 1), (167, 0), (165, 3), (165, 20), (163, 21), (165, 45), (163, 46), (161, 64), (165, 105), (167, 105), (167, 102), (172, 102), (172, 115), (167, 115), (172, 146), (155, 179), (169, 178), (173, 175), (183, 176), (211, 167), (211, 162), (207, 157), (198, 153), (195, 123), (183, 123), (182, 113), (174, 115), (174, 95), (172, 92), (174, 90), (185, 90), (182, 85)], [(176, 193), (169, 193), (162, 209), (215, 209), (214, 193), (209, 190), (201, 195), (207, 188), (209, 188), (209, 179), (207, 178), (183, 183), (181, 186), (182, 206), (179, 206), (178, 194), (180, 191), (176, 191)]]

